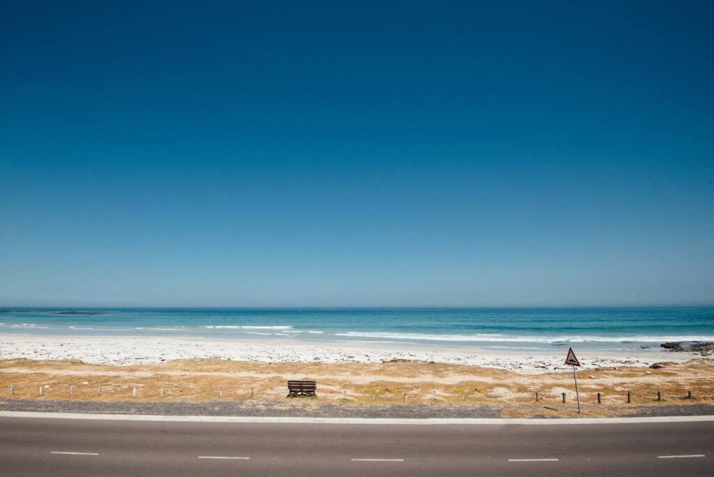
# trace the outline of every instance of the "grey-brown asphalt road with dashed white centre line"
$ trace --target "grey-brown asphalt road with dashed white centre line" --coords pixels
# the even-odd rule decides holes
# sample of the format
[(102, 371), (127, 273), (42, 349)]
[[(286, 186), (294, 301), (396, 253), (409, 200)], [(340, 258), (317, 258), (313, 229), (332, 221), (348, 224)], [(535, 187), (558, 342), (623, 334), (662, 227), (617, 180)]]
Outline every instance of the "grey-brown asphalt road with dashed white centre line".
[(11, 476), (556, 473), (714, 475), (714, 422), (405, 426), (0, 418), (0, 474)]

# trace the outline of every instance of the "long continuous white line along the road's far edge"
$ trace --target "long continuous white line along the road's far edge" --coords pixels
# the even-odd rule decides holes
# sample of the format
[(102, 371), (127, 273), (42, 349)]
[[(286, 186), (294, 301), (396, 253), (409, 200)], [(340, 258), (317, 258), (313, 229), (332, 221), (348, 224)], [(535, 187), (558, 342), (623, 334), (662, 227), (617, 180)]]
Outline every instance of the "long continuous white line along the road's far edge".
[(300, 418), (300, 417), (243, 417), (243, 416), (150, 416), (147, 414), (85, 414), (41, 413), (34, 411), (0, 411), (0, 418), (89, 419), (96, 421), (151, 421), (151, 422), (212, 422), (212, 423), (278, 423), (278, 424), (642, 424), (665, 422), (711, 422), (714, 416), (661, 416), (642, 418)]

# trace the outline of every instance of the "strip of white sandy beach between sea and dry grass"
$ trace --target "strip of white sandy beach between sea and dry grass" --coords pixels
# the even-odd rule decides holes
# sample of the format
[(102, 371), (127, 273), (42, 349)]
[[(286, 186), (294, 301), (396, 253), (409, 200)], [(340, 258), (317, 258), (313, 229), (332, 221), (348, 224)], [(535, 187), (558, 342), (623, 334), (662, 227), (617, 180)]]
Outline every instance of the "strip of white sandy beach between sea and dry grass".
[[(465, 346), (405, 346), (379, 343), (276, 343), (234, 338), (148, 336), (61, 336), (13, 333), (0, 338), (0, 359), (78, 360), (88, 364), (126, 366), (193, 358), (259, 363), (383, 363), (393, 360), (482, 366), (507, 371), (542, 373), (569, 371), (567, 347), (553, 350), (494, 350)], [(613, 366), (646, 367), (681, 363), (699, 356), (664, 348), (578, 351), (581, 369)]]

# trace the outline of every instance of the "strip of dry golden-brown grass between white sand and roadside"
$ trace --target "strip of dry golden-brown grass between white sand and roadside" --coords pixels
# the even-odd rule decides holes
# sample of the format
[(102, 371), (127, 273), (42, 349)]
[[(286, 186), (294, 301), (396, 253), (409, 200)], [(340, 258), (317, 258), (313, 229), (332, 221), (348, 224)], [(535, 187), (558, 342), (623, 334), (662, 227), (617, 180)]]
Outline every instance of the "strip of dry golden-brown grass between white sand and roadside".
[[(345, 405), (429, 403), (501, 406), (504, 416), (532, 416), (544, 406), (572, 411), (572, 373), (514, 373), (492, 368), (423, 361), (394, 363), (254, 363), (218, 359), (169, 361), (154, 365), (101, 366), (79, 361), (0, 361), (0, 397), (108, 401), (206, 402), (286, 399), (287, 379), (315, 379), (313, 402)], [(714, 361), (670, 363), (662, 369), (599, 368), (578, 373), (584, 414), (621, 413), (630, 391), (635, 405), (714, 401)], [(10, 395), (10, 386), (14, 394)], [(39, 396), (39, 388), (43, 393)], [(74, 386), (71, 393), (70, 386)], [(97, 388), (101, 386), (101, 396)], [(136, 387), (137, 396), (132, 397)], [(164, 389), (164, 397), (160, 389)], [(219, 389), (223, 389), (221, 398)], [(535, 403), (535, 392), (540, 401)], [(656, 401), (662, 391), (663, 401)], [(693, 399), (685, 399), (692, 391)], [(346, 399), (344, 393), (346, 392)], [(563, 405), (561, 393), (566, 393)], [(596, 393), (602, 393), (601, 405)], [(435, 399), (436, 397), (436, 399)], [(304, 402), (301, 400), (301, 402)], [(547, 411), (546, 411), (547, 412)]]

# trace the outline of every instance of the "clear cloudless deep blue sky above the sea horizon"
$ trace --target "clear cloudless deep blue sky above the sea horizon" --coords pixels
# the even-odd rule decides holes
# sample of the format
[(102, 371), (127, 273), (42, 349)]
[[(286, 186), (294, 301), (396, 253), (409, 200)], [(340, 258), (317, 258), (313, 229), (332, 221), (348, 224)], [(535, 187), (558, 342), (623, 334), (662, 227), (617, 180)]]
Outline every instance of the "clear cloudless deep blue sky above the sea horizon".
[(710, 1), (4, 1), (1, 306), (714, 303)]

